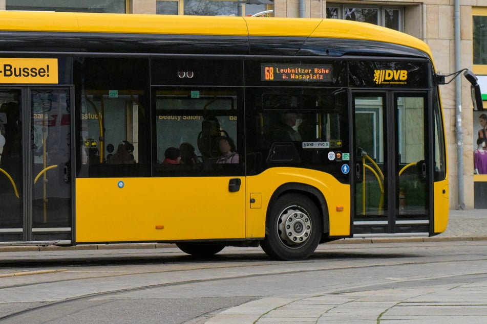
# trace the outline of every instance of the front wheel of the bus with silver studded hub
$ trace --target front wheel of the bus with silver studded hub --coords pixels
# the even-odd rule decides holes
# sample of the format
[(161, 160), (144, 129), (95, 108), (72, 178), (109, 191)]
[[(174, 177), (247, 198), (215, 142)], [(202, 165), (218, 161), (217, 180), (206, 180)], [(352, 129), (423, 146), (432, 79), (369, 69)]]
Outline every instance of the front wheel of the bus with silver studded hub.
[(320, 213), (311, 199), (300, 194), (284, 195), (267, 215), (261, 247), (274, 259), (306, 259), (320, 243), (321, 223)]

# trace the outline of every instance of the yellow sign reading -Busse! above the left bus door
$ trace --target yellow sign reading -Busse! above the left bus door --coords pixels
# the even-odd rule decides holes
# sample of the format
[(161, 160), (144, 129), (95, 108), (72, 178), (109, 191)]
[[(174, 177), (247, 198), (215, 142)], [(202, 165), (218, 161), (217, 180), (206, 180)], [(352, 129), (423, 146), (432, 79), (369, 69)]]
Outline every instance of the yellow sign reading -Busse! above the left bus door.
[(57, 58), (0, 58), (0, 83), (57, 84)]

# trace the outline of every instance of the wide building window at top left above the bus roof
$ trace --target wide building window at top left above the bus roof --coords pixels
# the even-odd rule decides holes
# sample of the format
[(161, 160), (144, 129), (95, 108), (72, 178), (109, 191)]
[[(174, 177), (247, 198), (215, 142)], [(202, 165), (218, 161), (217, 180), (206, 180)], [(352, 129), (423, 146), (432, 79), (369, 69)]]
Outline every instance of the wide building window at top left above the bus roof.
[(125, 13), (126, 0), (6, 0), (6, 10)]

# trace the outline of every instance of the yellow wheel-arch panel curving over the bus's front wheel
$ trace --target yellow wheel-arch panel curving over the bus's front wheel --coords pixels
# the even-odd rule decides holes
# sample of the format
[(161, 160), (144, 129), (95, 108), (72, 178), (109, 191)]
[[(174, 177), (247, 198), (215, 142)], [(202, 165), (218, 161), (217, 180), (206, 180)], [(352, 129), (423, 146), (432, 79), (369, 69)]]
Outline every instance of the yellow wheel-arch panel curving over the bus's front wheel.
[[(247, 177), (247, 238), (265, 236), (265, 217), (269, 199), (282, 184), (308, 184), (323, 193), (328, 204), (330, 236), (350, 235), (350, 186), (320, 171), (294, 168), (271, 168)], [(255, 203), (250, 203), (251, 199)], [(260, 201), (259, 201), (260, 199)], [(257, 204), (257, 205), (256, 205)], [(342, 212), (336, 206), (344, 206)]]

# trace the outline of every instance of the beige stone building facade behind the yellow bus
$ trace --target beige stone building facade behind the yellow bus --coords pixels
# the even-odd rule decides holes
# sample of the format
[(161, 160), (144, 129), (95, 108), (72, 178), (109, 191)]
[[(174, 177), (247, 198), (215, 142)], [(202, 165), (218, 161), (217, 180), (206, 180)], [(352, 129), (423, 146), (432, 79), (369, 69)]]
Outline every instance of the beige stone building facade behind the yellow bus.
[[(248, 0), (247, 3), (224, 0), (0, 0), (0, 10), (176, 15), (253, 15), (272, 10), (262, 15), (367, 21), (427, 42), (441, 74), (469, 68), (479, 76), (482, 93), (486, 94), (483, 99), (487, 100), (487, 0), (274, 0), (273, 4), (268, 0)], [(457, 33), (456, 24), (459, 24)], [(487, 189), (487, 175), (474, 175), (474, 150), (483, 112), (473, 110), (470, 83), (464, 78), (460, 80), (459, 84), (453, 80), (440, 88), (447, 131), (450, 208), (487, 208), (487, 203), (481, 201), (484, 184)]]

